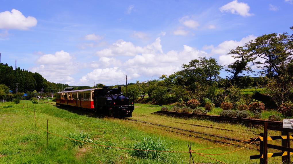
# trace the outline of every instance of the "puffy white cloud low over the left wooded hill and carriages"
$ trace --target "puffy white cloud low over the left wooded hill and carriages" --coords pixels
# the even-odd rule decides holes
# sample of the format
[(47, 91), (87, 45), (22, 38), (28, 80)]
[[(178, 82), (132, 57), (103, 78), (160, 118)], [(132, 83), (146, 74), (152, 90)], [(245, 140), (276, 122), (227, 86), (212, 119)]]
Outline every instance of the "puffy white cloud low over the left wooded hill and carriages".
[[(38, 52), (38, 54), (41, 54)], [(73, 62), (73, 57), (62, 51), (54, 55), (42, 55), (35, 61), (38, 66), (30, 68), (32, 72), (39, 72), (44, 78), (54, 83), (74, 84), (74, 78), (71, 75), (78, 72), (77, 63)]]

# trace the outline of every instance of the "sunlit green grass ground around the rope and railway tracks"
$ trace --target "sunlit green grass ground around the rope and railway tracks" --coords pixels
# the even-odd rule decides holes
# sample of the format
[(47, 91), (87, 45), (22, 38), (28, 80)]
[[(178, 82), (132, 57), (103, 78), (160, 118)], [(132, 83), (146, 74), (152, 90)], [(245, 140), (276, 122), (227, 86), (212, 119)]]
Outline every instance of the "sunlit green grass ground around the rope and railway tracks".
[[(35, 109), (36, 119), (40, 126), (61, 136), (69, 137), (69, 134), (79, 135), (88, 133), (93, 143), (133, 148), (134, 144), (143, 140), (144, 137), (151, 137), (154, 140), (165, 140), (172, 151), (188, 151), (188, 144), (192, 142), (193, 149), (219, 146), (202, 139), (195, 139), (168, 132), (165, 129), (147, 126), (132, 121), (95, 117), (93, 114), (75, 111), (72, 109), (59, 108), (52, 104), (32, 104), (30, 101), (21, 101), (25, 107), (33, 111)], [(13, 105), (4, 107), (3, 105)], [(177, 122), (196, 123), (202, 125), (213, 124), (234, 130), (240, 130), (237, 136), (241, 140), (256, 137), (243, 135), (241, 131), (255, 130), (243, 125), (226, 123), (214, 123), (196, 119), (168, 118), (151, 114), (160, 110), (157, 105), (136, 104), (133, 112), (134, 119), (152, 121), (158, 124), (176, 126), (170, 120)], [(69, 139), (49, 134), (47, 147), (47, 132), (35, 126), (34, 114), (23, 109), (22, 105), (14, 105), (13, 102), (0, 104), (0, 163), (189, 163), (189, 153), (169, 153), (166, 160), (150, 160), (136, 157), (131, 150), (117, 149), (93, 144), (84, 144), (79, 147)], [(195, 127), (181, 127), (191, 128)], [(203, 130), (210, 132), (210, 129)], [(212, 132), (215, 133), (216, 132)], [(230, 135), (229, 132), (224, 134)], [(272, 135), (278, 135), (273, 134)], [(225, 153), (239, 149), (237, 146), (223, 146), (218, 148), (199, 151), (201, 153)], [(270, 151), (271, 152), (271, 151)], [(210, 156), (225, 163), (258, 163), (259, 160), (249, 160), (249, 155), (255, 155), (256, 150), (242, 149), (226, 155)], [(209, 156), (209, 155), (208, 155)], [(196, 163), (219, 163), (214, 160), (193, 154)], [(280, 163), (281, 157), (269, 159), (269, 163)]]

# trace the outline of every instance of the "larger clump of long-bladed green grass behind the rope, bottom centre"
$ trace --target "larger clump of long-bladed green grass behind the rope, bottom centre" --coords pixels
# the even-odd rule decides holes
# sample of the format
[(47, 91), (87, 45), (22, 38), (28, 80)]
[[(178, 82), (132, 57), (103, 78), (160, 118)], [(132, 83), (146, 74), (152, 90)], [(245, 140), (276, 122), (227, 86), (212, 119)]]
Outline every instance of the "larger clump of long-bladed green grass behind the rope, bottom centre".
[[(154, 141), (151, 138), (144, 137), (141, 142), (138, 142), (134, 145), (132, 155), (140, 158), (149, 158), (156, 159), (158, 161), (163, 160), (166, 161), (169, 157), (169, 152), (160, 152), (160, 151), (170, 151), (167, 147), (167, 144), (164, 143), (164, 140), (158, 139), (158, 141)], [(141, 150), (158, 150), (158, 151), (141, 151)], [(170, 154), (171, 155), (171, 154)]]

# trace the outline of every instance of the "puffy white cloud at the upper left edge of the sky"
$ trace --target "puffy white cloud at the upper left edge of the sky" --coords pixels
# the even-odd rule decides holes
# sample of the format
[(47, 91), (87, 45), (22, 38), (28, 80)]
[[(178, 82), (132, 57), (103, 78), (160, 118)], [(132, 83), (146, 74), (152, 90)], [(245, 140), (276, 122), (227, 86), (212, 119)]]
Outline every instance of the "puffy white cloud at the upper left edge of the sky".
[(12, 9), (0, 13), (0, 29), (19, 29), (28, 30), (37, 25), (37, 19), (31, 16), (25, 16), (18, 10)]

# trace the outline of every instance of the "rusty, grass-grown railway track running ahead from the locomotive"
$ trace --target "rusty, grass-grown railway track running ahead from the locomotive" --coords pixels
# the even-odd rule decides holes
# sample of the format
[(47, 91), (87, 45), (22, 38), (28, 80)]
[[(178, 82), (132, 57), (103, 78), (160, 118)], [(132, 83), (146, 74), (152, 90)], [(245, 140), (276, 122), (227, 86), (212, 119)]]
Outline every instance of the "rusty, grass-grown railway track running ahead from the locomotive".
[[(154, 125), (154, 126), (151, 126), (151, 127), (161, 127), (161, 129), (163, 129), (163, 130), (167, 130), (167, 131), (174, 132), (174, 133), (181, 134), (181, 135), (187, 135), (187, 136), (190, 136), (190, 137), (205, 139), (205, 140), (208, 140), (208, 141), (211, 141), (211, 142), (217, 142), (217, 143), (222, 143), (222, 144), (231, 144), (231, 142), (227, 142), (227, 141), (242, 142), (242, 140), (238, 140), (238, 139), (222, 137), (222, 136), (217, 136), (217, 135), (211, 135), (211, 134), (208, 134), (208, 133), (196, 132), (196, 131), (193, 131), (193, 130), (186, 130), (186, 129), (176, 128), (176, 127), (171, 127), (171, 126), (166, 126), (166, 125), (161, 125), (161, 124), (156, 124), (156, 123), (150, 123), (150, 122), (146, 122), (146, 121), (134, 120), (134, 119), (130, 119), (130, 118), (123, 118), (123, 119), (129, 120), (129, 121), (135, 121), (135, 122), (139, 122), (139, 123), (144, 123), (146, 126)], [(185, 133), (185, 132), (187, 132), (187, 133)], [(197, 135), (193, 135), (193, 134), (197, 134)], [(198, 136), (198, 135), (207, 136), (207, 137), (202, 137), (202, 136)], [(222, 139), (222, 141), (217, 140), (217, 139), (211, 139), (211, 138), (208, 138), (208, 137), (219, 138), (219, 139)], [(250, 144), (251, 142), (245, 141), (243, 143)], [(257, 143), (253, 143), (253, 144), (259, 145)], [(240, 144), (238, 144), (238, 146), (241, 147)], [(255, 148), (249, 148), (249, 149), (255, 149)]]

